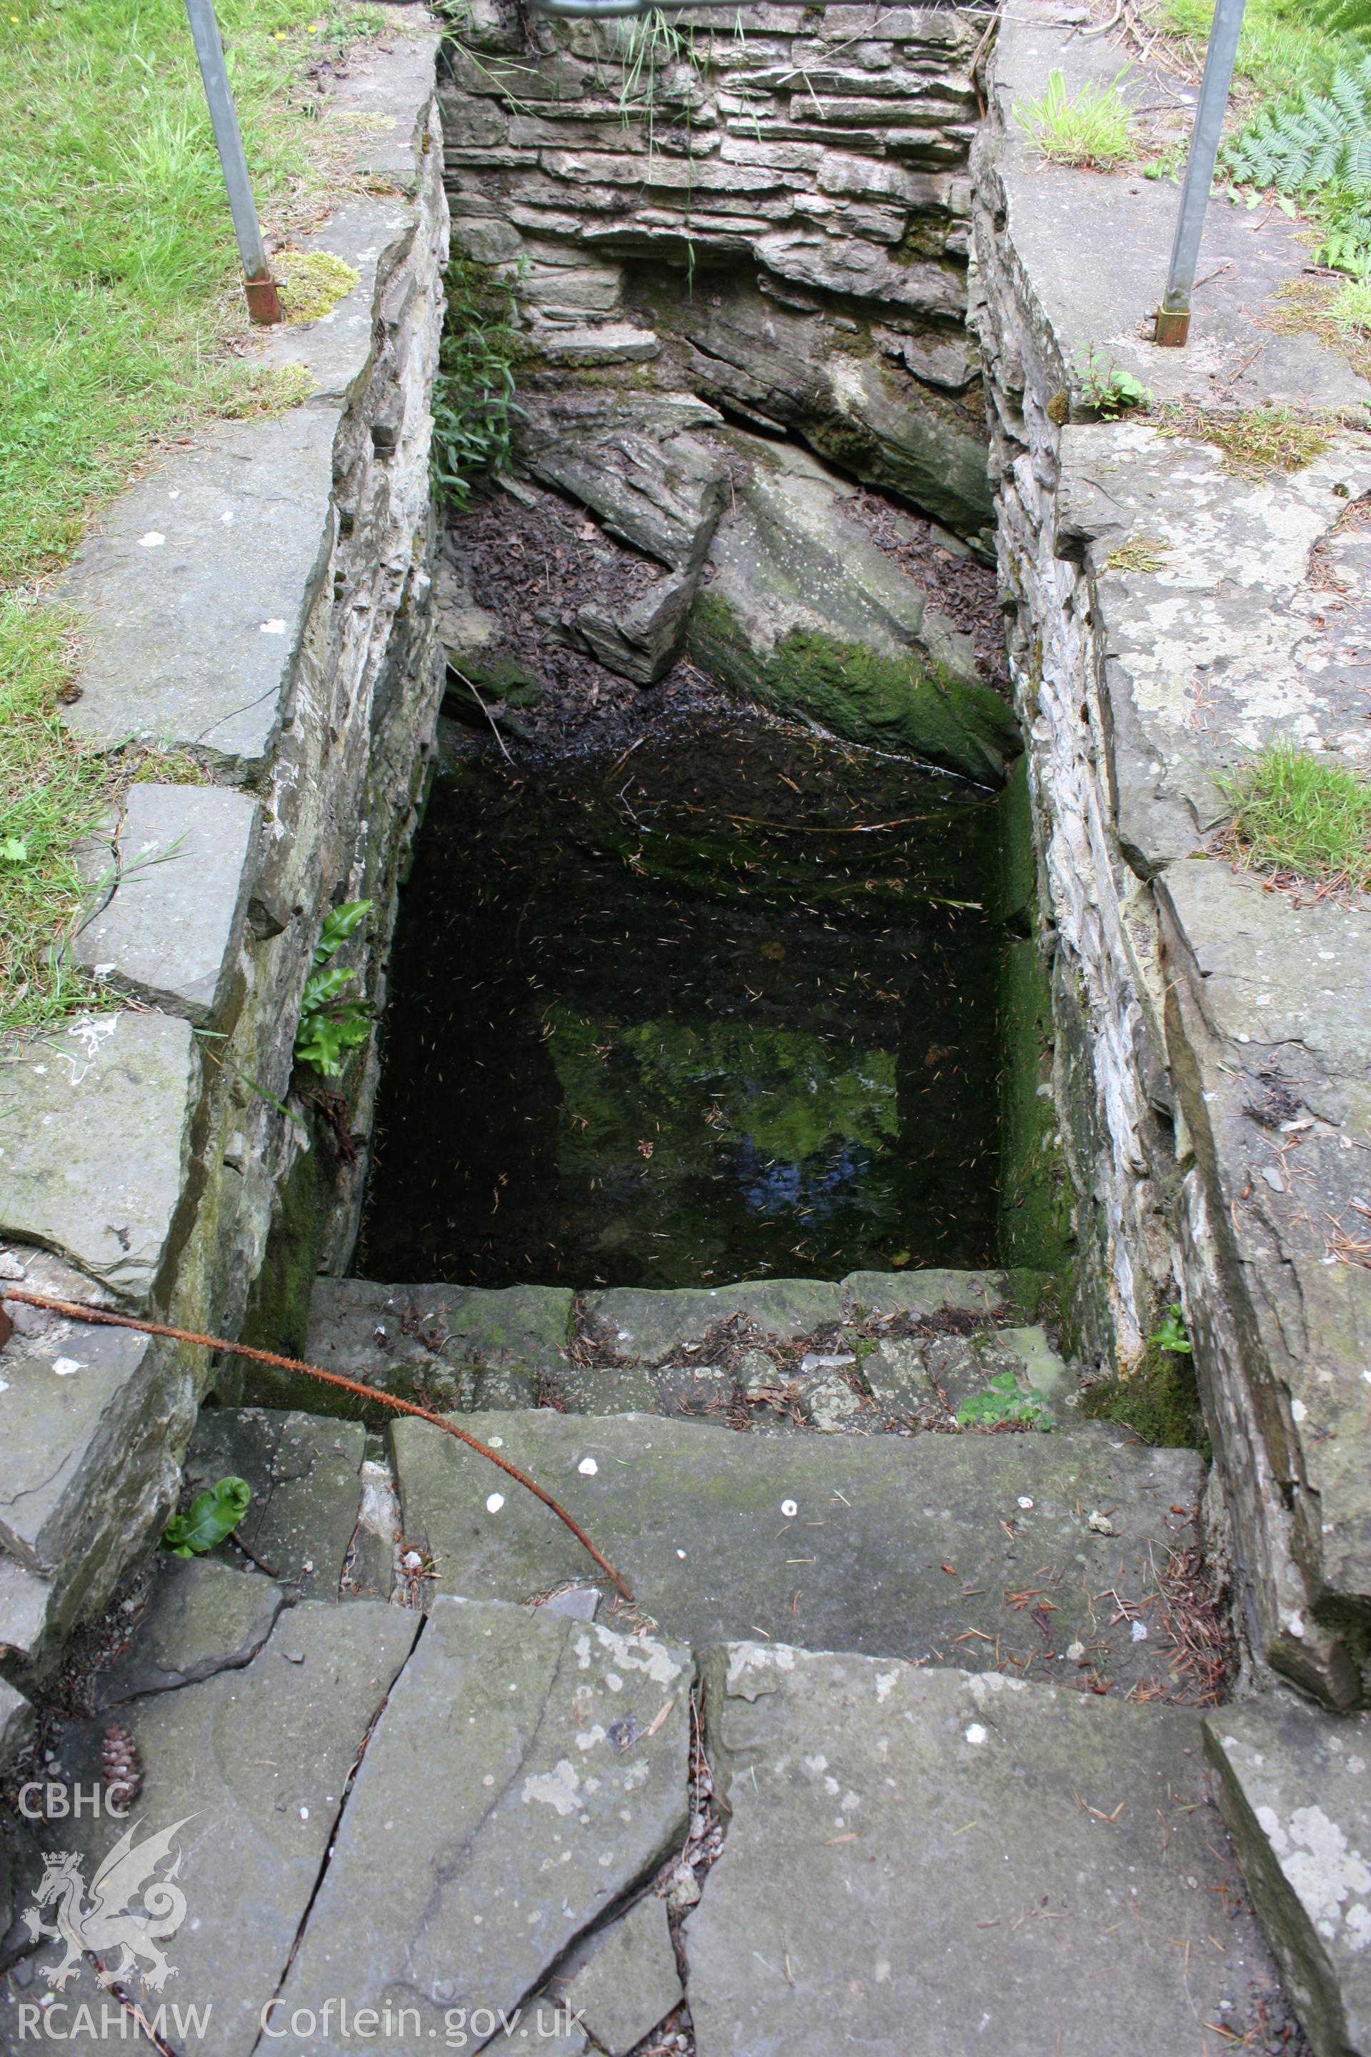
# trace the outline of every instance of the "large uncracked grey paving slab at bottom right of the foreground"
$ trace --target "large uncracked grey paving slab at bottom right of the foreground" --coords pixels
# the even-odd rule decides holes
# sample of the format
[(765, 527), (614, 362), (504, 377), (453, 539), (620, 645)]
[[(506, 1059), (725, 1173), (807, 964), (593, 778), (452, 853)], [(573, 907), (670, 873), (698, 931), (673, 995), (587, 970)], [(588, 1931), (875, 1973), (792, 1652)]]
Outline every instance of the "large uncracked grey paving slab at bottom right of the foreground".
[(1198, 1716), (756, 1641), (705, 1676), (699, 2057), (1211, 2057), (1276, 1997)]

